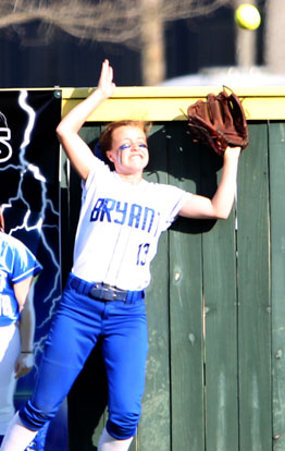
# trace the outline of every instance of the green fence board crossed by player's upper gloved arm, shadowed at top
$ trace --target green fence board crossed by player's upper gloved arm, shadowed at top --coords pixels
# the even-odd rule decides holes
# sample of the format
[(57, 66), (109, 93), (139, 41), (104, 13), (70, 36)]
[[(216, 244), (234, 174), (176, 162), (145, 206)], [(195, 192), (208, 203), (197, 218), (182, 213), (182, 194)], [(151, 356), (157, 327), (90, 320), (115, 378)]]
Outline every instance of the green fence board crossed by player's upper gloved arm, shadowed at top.
[[(170, 124), (169, 182), (200, 184), (200, 156), (184, 126)], [(170, 231), (172, 450), (205, 448), (201, 222), (179, 219)]]

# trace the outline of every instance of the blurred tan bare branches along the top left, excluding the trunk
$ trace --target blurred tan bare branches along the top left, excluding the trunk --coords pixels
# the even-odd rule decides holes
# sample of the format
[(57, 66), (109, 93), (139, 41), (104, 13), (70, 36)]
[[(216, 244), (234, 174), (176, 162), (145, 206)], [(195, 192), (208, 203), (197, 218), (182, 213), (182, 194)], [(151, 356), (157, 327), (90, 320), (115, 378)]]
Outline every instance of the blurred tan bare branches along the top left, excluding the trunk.
[[(152, 3), (152, 21), (162, 23), (189, 19), (215, 11), (230, 0), (160, 0)], [(139, 46), (141, 17), (146, 14), (140, 0), (1, 0), (0, 28), (41, 21), (80, 39), (126, 42)], [(133, 41), (133, 42), (132, 42)]]

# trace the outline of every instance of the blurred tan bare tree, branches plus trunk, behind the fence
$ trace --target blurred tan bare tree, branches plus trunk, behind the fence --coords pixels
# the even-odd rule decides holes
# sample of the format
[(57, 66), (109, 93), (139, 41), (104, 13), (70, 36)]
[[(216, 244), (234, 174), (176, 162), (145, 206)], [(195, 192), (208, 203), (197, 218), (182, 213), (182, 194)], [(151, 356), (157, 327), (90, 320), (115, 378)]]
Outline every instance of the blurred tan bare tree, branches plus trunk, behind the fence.
[[(59, 28), (79, 39), (124, 42), (141, 53), (142, 83), (164, 78), (164, 24), (210, 14), (233, 0), (0, 0), (0, 29), (12, 28), (24, 44), (42, 44)], [(37, 36), (26, 37), (27, 22)]]

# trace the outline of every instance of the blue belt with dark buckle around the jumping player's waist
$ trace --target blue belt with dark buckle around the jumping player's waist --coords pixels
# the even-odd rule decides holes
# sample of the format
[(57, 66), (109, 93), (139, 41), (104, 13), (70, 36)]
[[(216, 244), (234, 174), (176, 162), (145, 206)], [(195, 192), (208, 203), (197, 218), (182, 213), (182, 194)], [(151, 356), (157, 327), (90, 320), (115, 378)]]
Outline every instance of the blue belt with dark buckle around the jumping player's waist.
[(74, 275), (70, 275), (69, 283), (78, 293), (87, 294), (89, 297), (102, 302), (123, 301), (133, 303), (136, 300), (145, 297), (144, 291), (121, 290), (102, 282), (87, 282)]

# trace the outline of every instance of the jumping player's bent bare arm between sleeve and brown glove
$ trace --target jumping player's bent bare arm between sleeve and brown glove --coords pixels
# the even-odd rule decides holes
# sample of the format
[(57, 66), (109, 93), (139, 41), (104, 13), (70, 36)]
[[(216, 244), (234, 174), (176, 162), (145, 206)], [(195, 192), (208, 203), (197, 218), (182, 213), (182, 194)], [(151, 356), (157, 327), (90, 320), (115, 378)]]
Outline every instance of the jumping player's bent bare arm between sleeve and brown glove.
[(190, 195), (179, 211), (179, 216), (200, 219), (228, 218), (236, 192), (236, 178), (240, 147), (228, 147), (224, 154), (221, 182), (212, 199)]

